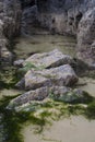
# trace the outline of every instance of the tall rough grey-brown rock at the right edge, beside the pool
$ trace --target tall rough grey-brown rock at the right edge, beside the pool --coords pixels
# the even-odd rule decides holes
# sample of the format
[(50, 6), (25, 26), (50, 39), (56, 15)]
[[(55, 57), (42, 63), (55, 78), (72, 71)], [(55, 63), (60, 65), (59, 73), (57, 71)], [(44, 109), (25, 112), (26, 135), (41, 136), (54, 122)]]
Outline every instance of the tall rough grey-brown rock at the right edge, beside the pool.
[(78, 31), (78, 58), (87, 64), (95, 63), (95, 8), (83, 15)]

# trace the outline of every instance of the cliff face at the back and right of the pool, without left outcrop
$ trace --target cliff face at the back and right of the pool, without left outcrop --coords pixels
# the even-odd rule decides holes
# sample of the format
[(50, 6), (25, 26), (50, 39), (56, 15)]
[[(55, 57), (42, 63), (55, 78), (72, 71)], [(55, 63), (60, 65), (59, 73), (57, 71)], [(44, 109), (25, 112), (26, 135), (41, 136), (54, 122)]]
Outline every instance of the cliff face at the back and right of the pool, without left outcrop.
[[(29, 3), (33, 0), (28, 0)], [(95, 63), (95, 0), (35, 0), (24, 7), (22, 32), (40, 26), (55, 34), (78, 37), (78, 57)]]

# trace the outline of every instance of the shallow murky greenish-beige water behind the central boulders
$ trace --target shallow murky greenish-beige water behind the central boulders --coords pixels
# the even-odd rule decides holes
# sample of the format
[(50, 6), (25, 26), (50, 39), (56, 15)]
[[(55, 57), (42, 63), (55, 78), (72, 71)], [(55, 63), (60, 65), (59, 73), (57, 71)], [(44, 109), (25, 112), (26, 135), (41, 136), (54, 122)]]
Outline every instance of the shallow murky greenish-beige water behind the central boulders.
[(46, 52), (57, 48), (63, 54), (75, 56), (75, 38), (60, 35), (33, 35), (16, 39), (15, 52), (19, 58), (29, 54)]

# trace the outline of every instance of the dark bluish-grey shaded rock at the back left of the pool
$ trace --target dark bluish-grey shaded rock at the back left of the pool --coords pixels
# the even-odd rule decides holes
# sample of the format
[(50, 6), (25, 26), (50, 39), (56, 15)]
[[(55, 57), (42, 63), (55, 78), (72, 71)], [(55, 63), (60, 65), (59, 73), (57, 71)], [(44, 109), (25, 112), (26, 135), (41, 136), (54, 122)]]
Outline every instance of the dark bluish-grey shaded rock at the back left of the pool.
[(36, 28), (38, 23), (37, 5), (29, 5), (22, 13), (22, 35), (33, 34), (33, 28)]

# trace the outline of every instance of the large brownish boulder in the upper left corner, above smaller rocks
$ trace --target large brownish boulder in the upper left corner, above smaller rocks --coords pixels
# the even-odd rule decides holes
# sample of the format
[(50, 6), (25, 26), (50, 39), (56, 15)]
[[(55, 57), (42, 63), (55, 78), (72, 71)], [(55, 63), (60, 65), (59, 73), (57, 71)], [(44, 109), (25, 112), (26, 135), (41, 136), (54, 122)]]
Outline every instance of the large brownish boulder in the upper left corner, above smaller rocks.
[(19, 0), (3, 1), (3, 32), (8, 38), (12, 38), (20, 33), (21, 27), (21, 3)]

